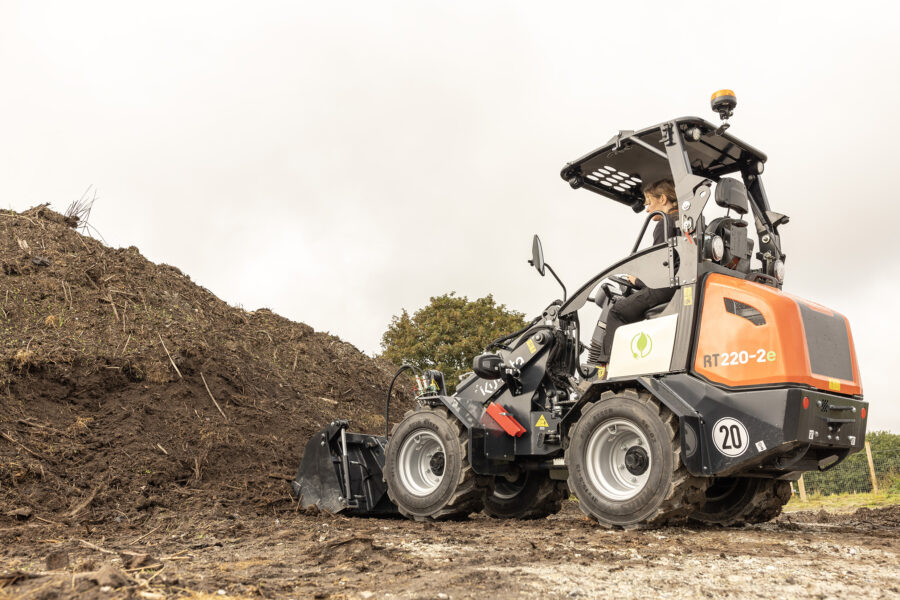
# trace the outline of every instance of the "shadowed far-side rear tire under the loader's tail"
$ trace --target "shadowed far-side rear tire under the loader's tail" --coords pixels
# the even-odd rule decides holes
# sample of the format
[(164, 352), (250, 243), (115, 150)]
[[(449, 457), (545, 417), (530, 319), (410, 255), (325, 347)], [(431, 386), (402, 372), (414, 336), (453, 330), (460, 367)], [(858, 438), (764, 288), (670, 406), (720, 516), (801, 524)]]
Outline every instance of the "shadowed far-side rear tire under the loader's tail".
[(781, 514), (791, 499), (791, 484), (774, 479), (723, 477), (706, 490), (706, 502), (691, 520), (726, 527), (765, 523)]

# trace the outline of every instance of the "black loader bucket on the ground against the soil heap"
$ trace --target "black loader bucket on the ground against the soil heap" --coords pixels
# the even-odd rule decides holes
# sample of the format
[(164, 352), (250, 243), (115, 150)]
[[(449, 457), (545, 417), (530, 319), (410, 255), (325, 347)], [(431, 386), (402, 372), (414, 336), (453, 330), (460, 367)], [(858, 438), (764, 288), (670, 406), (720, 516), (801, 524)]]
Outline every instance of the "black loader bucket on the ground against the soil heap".
[(304, 508), (353, 516), (397, 515), (382, 476), (387, 438), (347, 433), (350, 422), (332, 421), (306, 444), (294, 496)]

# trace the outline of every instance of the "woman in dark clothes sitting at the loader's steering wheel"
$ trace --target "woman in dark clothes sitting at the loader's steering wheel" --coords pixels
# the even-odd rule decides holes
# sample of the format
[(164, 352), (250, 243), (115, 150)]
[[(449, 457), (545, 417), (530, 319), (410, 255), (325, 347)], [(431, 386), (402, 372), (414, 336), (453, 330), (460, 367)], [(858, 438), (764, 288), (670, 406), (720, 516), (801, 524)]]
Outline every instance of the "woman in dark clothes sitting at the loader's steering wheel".
[[(660, 211), (668, 221), (668, 231), (671, 236), (680, 235), (675, 225), (673, 215), (678, 213), (678, 203), (675, 196), (675, 184), (671, 179), (661, 179), (644, 187), (644, 208), (648, 213)], [(662, 215), (653, 217), (656, 228), (653, 230), (653, 244), (661, 244), (666, 239), (666, 223)], [(675, 255), (675, 270), (678, 270), (678, 255)], [(675, 288), (648, 288), (644, 283), (629, 277), (637, 286), (637, 290), (630, 296), (623, 296), (613, 303), (606, 318), (606, 334), (603, 337), (603, 347), (600, 353), (600, 364), (597, 375), (600, 379), (606, 379), (606, 365), (609, 363), (609, 355), (612, 352), (613, 339), (616, 329), (628, 323), (634, 323), (644, 318), (644, 313), (650, 308), (664, 304), (675, 295)]]

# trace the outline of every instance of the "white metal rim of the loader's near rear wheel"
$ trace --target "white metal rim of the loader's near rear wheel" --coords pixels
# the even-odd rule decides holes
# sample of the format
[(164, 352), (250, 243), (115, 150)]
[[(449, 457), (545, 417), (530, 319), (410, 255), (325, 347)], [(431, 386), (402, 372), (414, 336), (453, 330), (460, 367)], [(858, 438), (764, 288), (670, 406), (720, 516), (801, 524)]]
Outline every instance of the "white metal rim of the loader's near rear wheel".
[[(640, 450), (632, 450), (640, 449)], [(634, 473), (626, 455), (643, 453), (646, 468)], [(585, 452), (587, 477), (594, 488), (610, 500), (624, 501), (637, 496), (647, 486), (653, 455), (643, 430), (629, 419), (611, 419), (600, 424), (588, 440)]]

